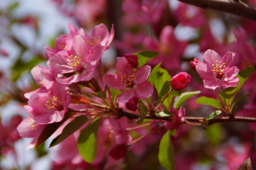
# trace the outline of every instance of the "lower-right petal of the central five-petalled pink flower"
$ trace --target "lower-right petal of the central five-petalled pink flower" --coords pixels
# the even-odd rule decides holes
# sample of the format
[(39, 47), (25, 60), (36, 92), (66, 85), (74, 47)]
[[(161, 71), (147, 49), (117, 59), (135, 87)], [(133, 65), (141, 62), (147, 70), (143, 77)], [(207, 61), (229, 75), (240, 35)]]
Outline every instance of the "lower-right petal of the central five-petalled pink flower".
[(145, 81), (141, 84), (136, 84), (133, 87), (134, 87), (134, 91), (135, 91), (135, 96), (137, 96), (138, 98), (143, 98), (143, 97), (149, 98), (154, 91), (153, 86), (148, 81)]

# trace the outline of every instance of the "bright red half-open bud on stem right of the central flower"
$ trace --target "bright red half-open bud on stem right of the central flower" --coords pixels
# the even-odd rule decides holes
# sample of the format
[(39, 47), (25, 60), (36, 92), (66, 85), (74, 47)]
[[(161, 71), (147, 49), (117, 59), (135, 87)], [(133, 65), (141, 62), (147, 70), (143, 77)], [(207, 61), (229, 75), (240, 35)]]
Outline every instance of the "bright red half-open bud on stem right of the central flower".
[(187, 87), (190, 80), (191, 76), (188, 73), (180, 72), (172, 78), (170, 84), (174, 90), (178, 91)]

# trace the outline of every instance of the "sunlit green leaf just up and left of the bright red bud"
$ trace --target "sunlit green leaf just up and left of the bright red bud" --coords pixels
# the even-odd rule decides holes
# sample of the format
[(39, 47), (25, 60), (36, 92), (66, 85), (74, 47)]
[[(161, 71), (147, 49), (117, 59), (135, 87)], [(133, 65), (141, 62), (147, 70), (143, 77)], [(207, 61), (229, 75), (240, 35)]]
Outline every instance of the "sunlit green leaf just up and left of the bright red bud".
[(154, 85), (155, 85), (155, 88), (156, 88), (156, 91), (157, 91), (158, 95), (160, 93), (160, 90), (161, 90), (161, 87), (162, 87), (163, 83), (166, 80), (171, 81), (172, 77), (169, 75), (168, 71), (166, 71), (165, 69), (162, 69), (160, 67), (157, 70), (156, 78), (155, 78), (155, 82), (154, 82)]

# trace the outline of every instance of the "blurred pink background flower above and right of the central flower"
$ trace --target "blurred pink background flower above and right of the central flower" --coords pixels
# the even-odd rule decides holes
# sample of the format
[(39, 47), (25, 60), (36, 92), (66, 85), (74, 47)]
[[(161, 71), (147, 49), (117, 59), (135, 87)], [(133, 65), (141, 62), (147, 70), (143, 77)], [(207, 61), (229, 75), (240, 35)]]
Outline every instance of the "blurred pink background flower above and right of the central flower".
[(187, 42), (178, 41), (174, 36), (174, 29), (166, 25), (159, 36), (159, 40), (152, 37), (146, 37), (143, 45), (147, 50), (159, 51), (159, 55), (147, 63), (156, 66), (162, 61), (162, 66), (167, 70), (180, 69), (180, 57), (183, 54)]

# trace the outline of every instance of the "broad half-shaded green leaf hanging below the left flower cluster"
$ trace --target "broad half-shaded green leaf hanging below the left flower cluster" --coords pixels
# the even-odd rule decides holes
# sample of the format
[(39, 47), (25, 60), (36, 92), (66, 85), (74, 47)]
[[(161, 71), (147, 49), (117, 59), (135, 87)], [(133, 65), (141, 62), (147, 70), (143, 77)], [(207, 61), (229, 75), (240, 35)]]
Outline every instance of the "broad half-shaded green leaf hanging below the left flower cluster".
[(77, 149), (83, 160), (92, 163), (97, 152), (97, 131), (101, 117), (93, 120), (81, 130), (77, 140)]

